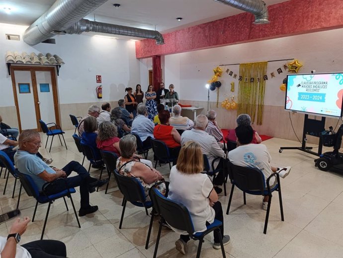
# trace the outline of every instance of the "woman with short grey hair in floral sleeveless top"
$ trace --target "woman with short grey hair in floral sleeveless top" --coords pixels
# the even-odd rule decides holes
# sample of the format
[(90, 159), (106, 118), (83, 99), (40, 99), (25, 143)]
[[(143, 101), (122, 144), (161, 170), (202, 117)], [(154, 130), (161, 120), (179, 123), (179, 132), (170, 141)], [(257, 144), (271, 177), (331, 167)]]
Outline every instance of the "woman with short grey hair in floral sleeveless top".
[[(155, 184), (164, 182), (164, 178), (159, 171), (148, 166), (140, 159), (139, 155), (136, 155), (137, 143), (136, 137), (132, 134), (127, 134), (123, 136), (119, 141), (119, 147), (121, 150), (121, 157), (117, 159), (117, 171), (119, 174), (126, 177), (134, 177), (142, 184), (146, 199), (150, 200), (149, 190)], [(157, 189), (161, 194), (166, 194), (166, 185), (160, 184), (157, 186)]]

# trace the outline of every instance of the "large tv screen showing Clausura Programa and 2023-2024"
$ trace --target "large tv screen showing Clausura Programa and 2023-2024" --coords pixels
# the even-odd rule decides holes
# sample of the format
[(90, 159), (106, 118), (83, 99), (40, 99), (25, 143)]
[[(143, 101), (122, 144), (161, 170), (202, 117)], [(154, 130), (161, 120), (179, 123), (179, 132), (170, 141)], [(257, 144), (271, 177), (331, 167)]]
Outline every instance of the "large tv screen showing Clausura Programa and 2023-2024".
[(342, 117), (343, 73), (288, 74), (285, 110)]

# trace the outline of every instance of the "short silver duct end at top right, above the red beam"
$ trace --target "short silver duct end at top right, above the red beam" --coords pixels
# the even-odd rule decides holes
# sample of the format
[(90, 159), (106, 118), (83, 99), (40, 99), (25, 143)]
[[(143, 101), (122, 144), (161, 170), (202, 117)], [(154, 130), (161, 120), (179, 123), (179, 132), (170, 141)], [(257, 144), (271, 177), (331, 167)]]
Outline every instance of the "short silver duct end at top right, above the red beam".
[(251, 12), (255, 15), (255, 24), (269, 23), (268, 10), (265, 2), (261, 0), (214, 0), (221, 2), (242, 11)]

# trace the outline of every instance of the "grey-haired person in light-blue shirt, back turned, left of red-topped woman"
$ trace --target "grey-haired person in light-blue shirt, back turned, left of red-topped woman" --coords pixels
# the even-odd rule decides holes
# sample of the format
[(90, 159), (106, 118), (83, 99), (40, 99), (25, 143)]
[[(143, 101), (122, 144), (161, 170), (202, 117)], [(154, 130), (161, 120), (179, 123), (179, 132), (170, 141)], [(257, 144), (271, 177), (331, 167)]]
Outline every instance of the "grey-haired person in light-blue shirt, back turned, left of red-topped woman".
[(147, 144), (145, 142), (150, 136), (154, 138), (154, 127), (155, 124), (148, 118), (147, 107), (144, 103), (139, 103), (137, 107), (138, 116), (132, 122), (131, 132), (138, 134), (141, 138), (143, 145)]

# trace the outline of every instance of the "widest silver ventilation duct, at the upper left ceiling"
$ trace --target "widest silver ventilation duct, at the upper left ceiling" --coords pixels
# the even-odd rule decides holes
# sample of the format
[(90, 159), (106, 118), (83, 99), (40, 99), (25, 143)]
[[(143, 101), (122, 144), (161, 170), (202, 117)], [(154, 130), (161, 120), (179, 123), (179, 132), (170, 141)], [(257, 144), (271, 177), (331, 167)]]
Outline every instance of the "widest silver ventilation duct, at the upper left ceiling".
[(25, 30), (23, 40), (33, 46), (64, 31), (107, 0), (57, 0)]

